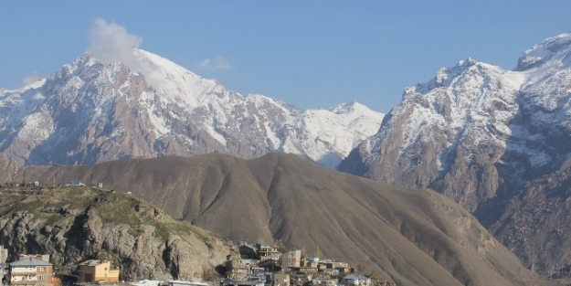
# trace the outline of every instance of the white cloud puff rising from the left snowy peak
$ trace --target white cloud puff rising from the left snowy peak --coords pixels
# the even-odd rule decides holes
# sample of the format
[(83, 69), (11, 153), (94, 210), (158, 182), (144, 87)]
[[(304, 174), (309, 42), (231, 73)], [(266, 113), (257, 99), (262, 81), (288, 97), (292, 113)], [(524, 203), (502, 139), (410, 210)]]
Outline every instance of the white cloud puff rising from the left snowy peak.
[(132, 49), (139, 48), (143, 38), (129, 34), (123, 26), (115, 22), (107, 23), (97, 18), (90, 30), (90, 51), (94, 58), (104, 64), (119, 62), (127, 65), (136, 65)]

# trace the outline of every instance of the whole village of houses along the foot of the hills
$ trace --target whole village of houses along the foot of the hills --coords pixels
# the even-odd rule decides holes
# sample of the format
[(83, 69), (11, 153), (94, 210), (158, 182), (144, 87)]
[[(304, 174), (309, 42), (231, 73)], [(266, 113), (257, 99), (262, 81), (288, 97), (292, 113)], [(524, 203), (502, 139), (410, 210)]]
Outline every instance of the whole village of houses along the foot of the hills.
[[(153, 286), (394, 286), (392, 281), (379, 277), (375, 271), (361, 273), (360, 266), (346, 262), (306, 258), (301, 250), (283, 251), (281, 247), (264, 243), (238, 243), (234, 255), (218, 265), (216, 271), (205, 273), (202, 281), (185, 281), (182, 277), (156, 281)], [(317, 251), (319, 252), (319, 250)], [(20, 254), (15, 261), (7, 261), (8, 251), (0, 247), (3, 265), (3, 285), (62, 286), (132, 283), (122, 280), (121, 270), (110, 260), (84, 260), (77, 265), (69, 280), (58, 275), (49, 254)]]

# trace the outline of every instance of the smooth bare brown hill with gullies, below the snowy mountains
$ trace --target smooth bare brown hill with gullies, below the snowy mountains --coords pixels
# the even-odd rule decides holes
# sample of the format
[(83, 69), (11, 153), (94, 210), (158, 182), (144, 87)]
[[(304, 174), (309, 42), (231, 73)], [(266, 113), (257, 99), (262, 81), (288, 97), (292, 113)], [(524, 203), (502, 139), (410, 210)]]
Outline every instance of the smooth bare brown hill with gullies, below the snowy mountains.
[[(250, 160), (203, 154), (89, 166), (26, 166), (16, 177), (21, 179), (24, 172), (40, 185), (52, 184), (55, 177), (88, 185), (100, 182), (223, 238), (270, 244), (280, 239), (289, 249), (307, 255), (322, 252), (325, 258), (363, 266), (365, 274), (375, 270), (397, 285), (557, 285), (525, 269), (476, 218), (446, 196), (335, 172), (293, 154)], [(104, 212), (98, 214), (104, 221)], [(79, 225), (84, 226), (85, 219), (81, 217)], [(39, 229), (38, 240), (59, 241), (54, 235), (40, 237), (41, 223), (29, 229)], [(126, 236), (107, 231), (100, 231), (95, 241), (119, 243)], [(81, 236), (90, 238), (89, 233)], [(136, 249), (136, 243), (126, 245), (128, 251)]]

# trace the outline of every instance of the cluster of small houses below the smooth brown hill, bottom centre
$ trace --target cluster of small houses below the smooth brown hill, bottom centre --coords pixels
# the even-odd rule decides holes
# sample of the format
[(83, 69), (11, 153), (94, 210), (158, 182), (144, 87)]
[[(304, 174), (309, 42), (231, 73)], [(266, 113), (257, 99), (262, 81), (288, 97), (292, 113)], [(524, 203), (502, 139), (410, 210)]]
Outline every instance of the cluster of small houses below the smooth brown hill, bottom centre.
[(240, 242), (239, 257), (227, 257), (220, 286), (385, 286), (346, 262), (305, 258), (301, 250), (280, 252), (267, 244)]

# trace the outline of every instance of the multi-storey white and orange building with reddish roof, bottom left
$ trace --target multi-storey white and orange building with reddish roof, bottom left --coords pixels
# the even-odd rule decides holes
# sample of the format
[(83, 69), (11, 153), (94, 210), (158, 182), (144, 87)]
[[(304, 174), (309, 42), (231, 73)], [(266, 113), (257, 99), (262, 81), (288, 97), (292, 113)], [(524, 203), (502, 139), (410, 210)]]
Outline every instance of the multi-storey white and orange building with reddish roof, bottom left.
[(18, 286), (52, 286), (53, 265), (28, 256), (8, 264), (8, 281)]

